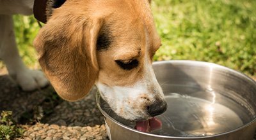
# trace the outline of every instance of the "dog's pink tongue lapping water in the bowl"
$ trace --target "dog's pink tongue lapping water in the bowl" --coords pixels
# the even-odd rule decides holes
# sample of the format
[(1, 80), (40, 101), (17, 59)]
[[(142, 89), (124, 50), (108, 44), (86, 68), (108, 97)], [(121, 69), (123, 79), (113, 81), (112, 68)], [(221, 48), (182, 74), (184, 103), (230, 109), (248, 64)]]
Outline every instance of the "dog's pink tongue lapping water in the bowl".
[(136, 122), (136, 129), (141, 132), (150, 132), (152, 130), (160, 129), (162, 122), (158, 118), (150, 118), (142, 122)]

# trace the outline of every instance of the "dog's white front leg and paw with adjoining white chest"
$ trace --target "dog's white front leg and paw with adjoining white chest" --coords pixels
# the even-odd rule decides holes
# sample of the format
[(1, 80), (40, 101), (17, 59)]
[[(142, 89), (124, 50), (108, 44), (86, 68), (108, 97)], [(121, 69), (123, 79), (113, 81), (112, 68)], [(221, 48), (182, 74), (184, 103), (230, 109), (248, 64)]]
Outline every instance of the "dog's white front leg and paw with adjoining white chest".
[(0, 59), (23, 90), (35, 90), (49, 84), (41, 71), (30, 70), (24, 65), (15, 43), (12, 15), (31, 15), (33, 3), (33, 0), (0, 0)]

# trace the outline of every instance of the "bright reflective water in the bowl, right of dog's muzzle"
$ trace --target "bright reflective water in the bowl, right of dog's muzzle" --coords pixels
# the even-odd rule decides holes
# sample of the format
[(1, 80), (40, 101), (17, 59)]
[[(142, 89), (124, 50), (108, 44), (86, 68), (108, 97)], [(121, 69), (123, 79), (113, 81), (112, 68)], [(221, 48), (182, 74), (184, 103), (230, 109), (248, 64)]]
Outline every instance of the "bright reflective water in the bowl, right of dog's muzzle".
[(152, 132), (166, 136), (209, 136), (235, 129), (243, 125), (231, 109), (188, 95), (166, 95), (168, 110), (158, 116), (161, 130)]

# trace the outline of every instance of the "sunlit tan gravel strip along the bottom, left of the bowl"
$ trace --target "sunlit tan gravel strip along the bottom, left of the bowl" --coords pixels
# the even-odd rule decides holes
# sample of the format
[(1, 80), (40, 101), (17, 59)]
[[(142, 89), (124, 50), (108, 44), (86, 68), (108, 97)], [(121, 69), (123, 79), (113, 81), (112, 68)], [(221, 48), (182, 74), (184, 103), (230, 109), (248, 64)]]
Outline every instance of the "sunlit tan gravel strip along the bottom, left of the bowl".
[(28, 127), (24, 137), (19, 139), (108, 139), (105, 125), (93, 127), (59, 126), (36, 123)]

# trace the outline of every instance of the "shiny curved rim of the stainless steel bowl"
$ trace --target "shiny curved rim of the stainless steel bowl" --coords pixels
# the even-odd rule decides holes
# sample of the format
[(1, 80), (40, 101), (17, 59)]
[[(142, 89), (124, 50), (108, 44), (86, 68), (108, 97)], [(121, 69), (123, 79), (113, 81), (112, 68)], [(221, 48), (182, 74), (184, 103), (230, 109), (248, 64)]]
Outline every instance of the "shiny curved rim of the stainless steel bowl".
[[(220, 69), (224, 69), (226, 71), (230, 71), (232, 73), (236, 73), (236, 74), (239, 74), (239, 76), (243, 76), (244, 78), (246, 78), (247, 80), (250, 80), (252, 81), (252, 83), (256, 86), (256, 81), (252, 80), (252, 78), (246, 76), (245, 74), (243, 73), (240, 73), (239, 71), (235, 71), (234, 69), (230, 69), (228, 67), (225, 67), (225, 66), (221, 66), (221, 65), (218, 65), (218, 64), (214, 64), (212, 62), (203, 62), (203, 61), (195, 61), (195, 60), (163, 60), (163, 61), (156, 61), (156, 62), (153, 62), (153, 64), (168, 64), (168, 63), (180, 63), (180, 64), (190, 64), (190, 63), (193, 63), (193, 64), (198, 64), (200, 66), (204, 65), (204, 66), (212, 66), (212, 67), (218, 67)], [(131, 127), (127, 127), (126, 125), (123, 125), (122, 123), (120, 122), (117, 122), (115, 119), (113, 119), (111, 116), (108, 115), (108, 113), (106, 113), (104, 110), (102, 110), (102, 108), (100, 108), (100, 104), (99, 104), (99, 91), (97, 92), (96, 94), (96, 102), (97, 102), (97, 106), (98, 108), (100, 109), (100, 112), (106, 117), (106, 118), (109, 118), (112, 122), (116, 123), (117, 125), (119, 125), (120, 127), (123, 127), (124, 129), (128, 129), (132, 132), (136, 132), (136, 133), (140, 133), (140, 134), (143, 134), (143, 135), (147, 135), (147, 136), (151, 136), (151, 137), (159, 137), (159, 138), (172, 138), (172, 139), (204, 139), (204, 138), (211, 138), (211, 137), (218, 137), (218, 136), (223, 136), (223, 135), (226, 135), (226, 134), (229, 134), (229, 133), (232, 133), (232, 132), (236, 132), (238, 130), (241, 130), (241, 129), (244, 129), (250, 125), (252, 125), (253, 123), (256, 122), (256, 117), (251, 121), (251, 122), (248, 122), (244, 125), (242, 125), (241, 127), (237, 127), (236, 129), (234, 130), (230, 130), (230, 131), (227, 131), (227, 132), (223, 132), (223, 133), (219, 133), (219, 134), (214, 134), (214, 135), (211, 135), (211, 136), (198, 136), (198, 137), (175, 137), (175, 136), (162, 136), (162, 135), (157, 135), (157, 134), (150, 134), (150, 133), (146, 133), (146, 132), (140, 132), (136, 129), (132, 129)], [(108, 124), (107, 124), (108, 125)]]

